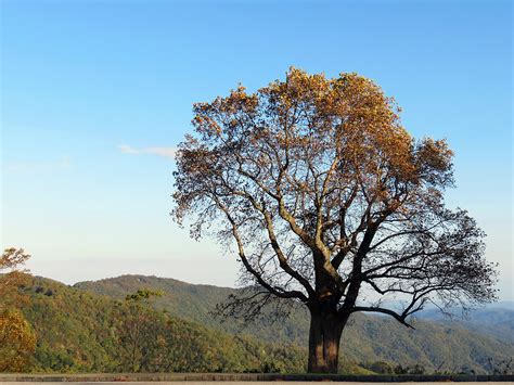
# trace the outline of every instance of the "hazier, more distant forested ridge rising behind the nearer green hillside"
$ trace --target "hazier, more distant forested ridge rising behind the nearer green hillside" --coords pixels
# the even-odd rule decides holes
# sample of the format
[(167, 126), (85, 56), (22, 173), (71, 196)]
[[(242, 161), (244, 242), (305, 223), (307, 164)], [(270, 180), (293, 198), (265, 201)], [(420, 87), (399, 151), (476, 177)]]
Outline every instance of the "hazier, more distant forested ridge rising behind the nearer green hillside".
[[(236, 290), (144, 275), (123, 275), (95, 282), (77, 283), (75, 287), (123, 298), (141, 287), (162, 291), (164, 296), (154, 306), (169, 313), (198, 322), (207, 328), (237, 333), (241, 323), (213, 318), (215, 305), (226, 300)], [(408, 330), (384, 317), (356, 315), (343, 334), (342, 349), (355, 362), (386, 361), (391, 364), (421, 364), (427, 371), (490, 370), (489, 359), (510, 360), (514, 357), (512, 343), (502, 342), (464, 328), (464, 324), (439, 321), (417, 321)], [(307, 346), (308, 316), (305, 310), (293, 311), (280, 323), (257, 322), (243, 330), (249, 336), (268, 342), (294, 343)]]

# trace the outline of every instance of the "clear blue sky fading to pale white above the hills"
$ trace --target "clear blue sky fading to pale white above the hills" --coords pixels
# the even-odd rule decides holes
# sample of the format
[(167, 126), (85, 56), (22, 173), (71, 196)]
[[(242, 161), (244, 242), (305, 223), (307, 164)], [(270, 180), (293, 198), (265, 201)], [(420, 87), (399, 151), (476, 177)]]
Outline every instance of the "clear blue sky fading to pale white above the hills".
[(1, 243), (34, 273), (233, 285), (234, 257), (168, 216), (172, 147), (194, 102), (296, 66), (372, 78), (411, 133), (448, 139), (449, 205), (488, 233), (514, 299), (510, 2), (0, 3)]

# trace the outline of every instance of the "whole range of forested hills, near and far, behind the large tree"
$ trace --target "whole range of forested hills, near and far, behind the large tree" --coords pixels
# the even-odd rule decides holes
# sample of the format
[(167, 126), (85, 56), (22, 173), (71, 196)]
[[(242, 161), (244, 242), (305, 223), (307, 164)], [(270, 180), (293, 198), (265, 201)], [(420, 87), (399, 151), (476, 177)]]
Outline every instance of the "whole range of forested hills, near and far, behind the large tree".
[[(164, 293), (153, 309), (128, 307), (126, 295), (141, 288)], [(38, 339), (34, 372), (305, 371), (306, 312), (295, 310), (275, 324), (261, 320), (239, 333), (241, 323), (209, 315), (232, 288), (124, 275), (75, 286), (33, 278), (22, 290), (29, 298), (24, 313)], [(146, 334), (138, 367), (132, 367), (127, 331), (141, 319)], [(385, 362), (382, 365), (419, 364), (426, 372), (467, 368), (484, 373), (490, 371), (489, 358), (498, 362), (514, 357), (511, 343), (459, 324), (417, 321), (415, 326), (407, 330), (388, 318), (354, 317), (343, 335), (342, 371), (377, 371), (376, 362)]]

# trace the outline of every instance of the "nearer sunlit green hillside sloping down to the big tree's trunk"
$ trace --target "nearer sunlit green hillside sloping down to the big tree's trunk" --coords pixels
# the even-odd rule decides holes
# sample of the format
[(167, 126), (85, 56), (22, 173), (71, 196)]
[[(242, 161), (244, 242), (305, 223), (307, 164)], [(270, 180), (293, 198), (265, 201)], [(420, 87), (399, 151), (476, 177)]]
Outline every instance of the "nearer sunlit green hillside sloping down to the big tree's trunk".
[[(25, 317), (37, 335), (34, 372), (119, 372), (128, 347), (123, 304), (48, 279), (34, 278)], [(141, 371), (303, 372), (306, 351), (208, 330), (156, 310), (144, 310), (147, 342)], [(139, 316), (138, 316), (139, 317)], [(120, 323), (121, 322), (121, 323)], [(128, 326), (127, 326), (128, 325)], [(157, 344), (158, 343), (158, 344)]]

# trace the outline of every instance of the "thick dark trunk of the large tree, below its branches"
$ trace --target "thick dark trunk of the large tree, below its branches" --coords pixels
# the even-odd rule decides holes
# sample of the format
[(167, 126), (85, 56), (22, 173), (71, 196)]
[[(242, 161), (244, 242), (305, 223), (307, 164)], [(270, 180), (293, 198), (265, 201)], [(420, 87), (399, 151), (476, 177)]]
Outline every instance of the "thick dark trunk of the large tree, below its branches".
[(339, 342), (346, 320), (335, 310), (310, 309), (309, 373), (337, 373)]

